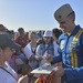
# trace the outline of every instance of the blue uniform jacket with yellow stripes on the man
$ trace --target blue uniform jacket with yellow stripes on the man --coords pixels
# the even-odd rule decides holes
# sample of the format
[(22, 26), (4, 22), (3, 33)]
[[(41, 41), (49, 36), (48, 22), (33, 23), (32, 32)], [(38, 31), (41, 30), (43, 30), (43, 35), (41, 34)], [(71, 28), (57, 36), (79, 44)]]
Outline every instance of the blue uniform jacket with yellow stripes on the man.
[[(54, 62), (62, 61), (65, 71), (63, 83), (83, 83), (83, 32), (77, 34), (80, 29), (76, 25), (71, 35), (63, 33), (59, 38), (60, 55), (54, 58)], [(73, 40), (76, 34), (79, 38), (75, 38), (75, 42)]]

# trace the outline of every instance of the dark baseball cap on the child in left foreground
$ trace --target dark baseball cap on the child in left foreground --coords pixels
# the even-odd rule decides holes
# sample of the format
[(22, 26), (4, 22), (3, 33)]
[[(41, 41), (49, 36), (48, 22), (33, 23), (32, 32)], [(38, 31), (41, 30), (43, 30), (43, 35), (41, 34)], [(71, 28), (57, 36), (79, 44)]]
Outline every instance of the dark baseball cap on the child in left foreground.
[(9, 34), (0, 34), (0, 46), (1, 46), (1, 48), (10, 46), (10, 48), (14, 49), (15, 51), (21, 48), (18, 43), (15, 43), (15, 42), (9, 37)]

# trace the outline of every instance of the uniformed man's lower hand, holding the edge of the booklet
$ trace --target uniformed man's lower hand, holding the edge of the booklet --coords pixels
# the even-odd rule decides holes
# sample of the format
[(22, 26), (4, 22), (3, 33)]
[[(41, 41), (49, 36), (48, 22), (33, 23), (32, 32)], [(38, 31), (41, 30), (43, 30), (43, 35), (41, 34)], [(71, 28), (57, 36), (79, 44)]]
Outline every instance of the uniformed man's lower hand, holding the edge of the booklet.
[(64, 69), (62, 66), (56, 66), (52, 73), (54, 73), (55, 77), (60, 77), (64, 75)]

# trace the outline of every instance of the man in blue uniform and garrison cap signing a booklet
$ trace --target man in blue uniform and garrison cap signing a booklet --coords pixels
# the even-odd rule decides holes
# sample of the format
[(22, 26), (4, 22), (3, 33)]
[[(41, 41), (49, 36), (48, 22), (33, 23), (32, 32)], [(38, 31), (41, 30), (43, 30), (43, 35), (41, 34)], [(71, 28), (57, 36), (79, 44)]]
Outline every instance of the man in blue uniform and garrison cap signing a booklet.
[(59, 56), (48, 58), (62, 66), (53, 70), (54, 77), (62, 77), (62, 83), (83, 83), (83, 30), (75, 24), (75, 12), (69, 3), (54, 12), (54, 18), (64, 33), (59, 38)]

